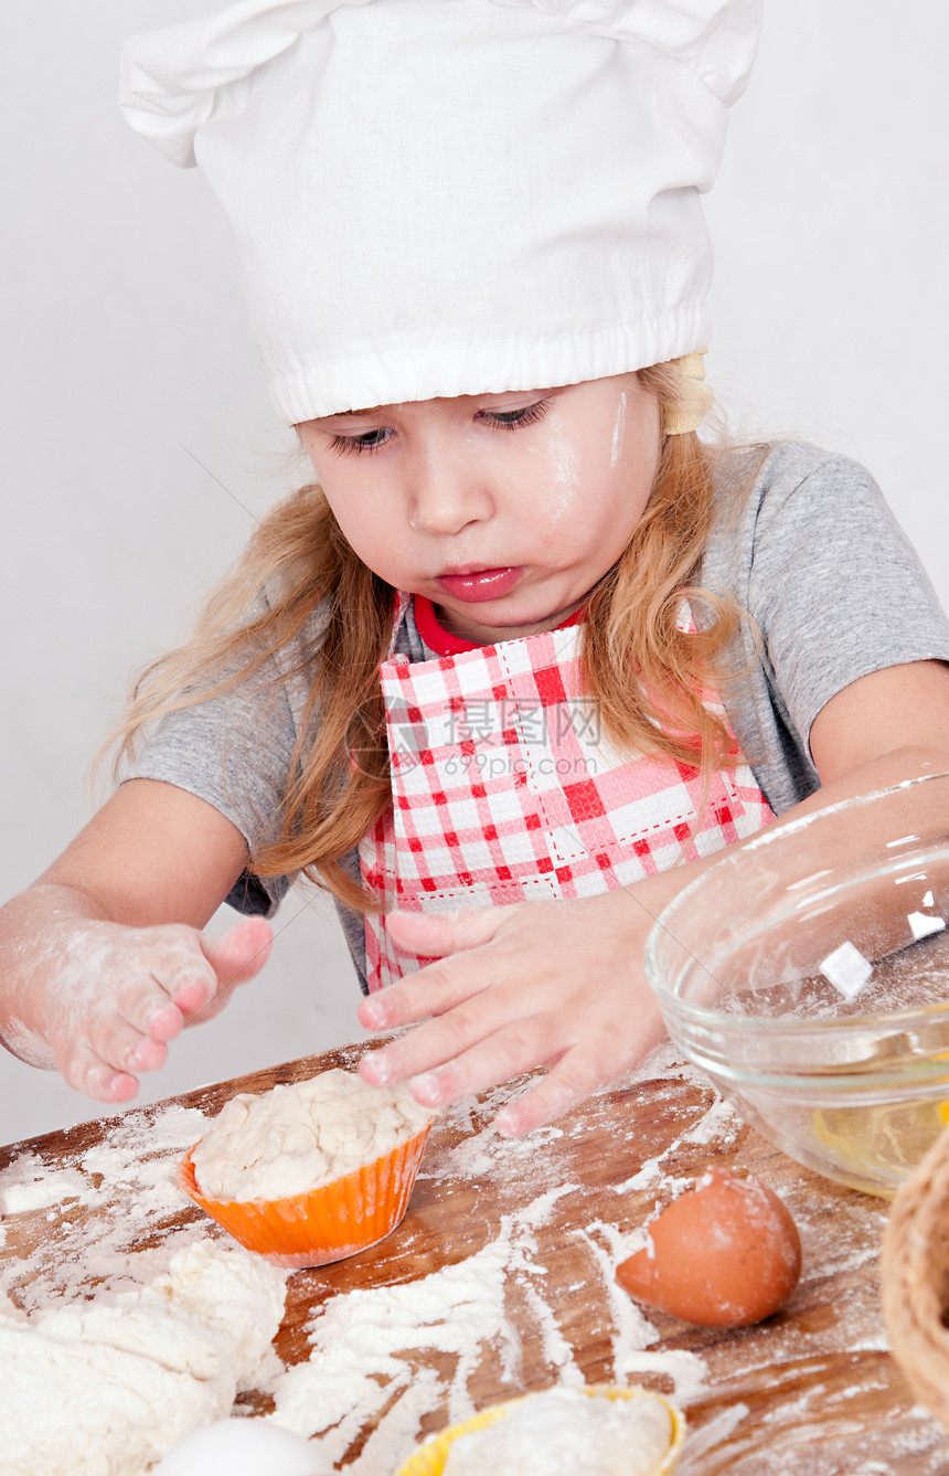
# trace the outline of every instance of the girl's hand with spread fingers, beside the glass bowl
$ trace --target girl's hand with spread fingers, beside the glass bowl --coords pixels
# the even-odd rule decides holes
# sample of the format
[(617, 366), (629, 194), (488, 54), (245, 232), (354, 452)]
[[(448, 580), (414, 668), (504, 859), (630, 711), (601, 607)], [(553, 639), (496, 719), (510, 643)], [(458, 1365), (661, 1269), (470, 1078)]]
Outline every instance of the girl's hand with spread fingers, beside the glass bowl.
[[(682, 884), (682, 883), (679, 883)], [(652, 909), (635, 892), (463, 912), (393, 912), (394, 942), (438, 962), (365, 999), (370, 1030), (432, 1018), (360, 1061), (375, 1086), (412, 1077), (427, 1107), (522, 1072), (548, 1075), (496, 1119), (524, 1134), (633, 1067), (664, 1033), (642, 955)]]

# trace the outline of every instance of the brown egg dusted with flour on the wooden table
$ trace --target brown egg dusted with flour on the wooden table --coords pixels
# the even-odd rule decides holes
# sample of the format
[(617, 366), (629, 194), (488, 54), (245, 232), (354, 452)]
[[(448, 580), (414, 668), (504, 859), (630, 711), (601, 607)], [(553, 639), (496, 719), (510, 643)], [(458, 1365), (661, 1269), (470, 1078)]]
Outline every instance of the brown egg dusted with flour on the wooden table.
[(617, 1266), (638, 1302), (703, 1327), (770, 1317), (801, 1274), (797, 1225), (756, 1179), (710, 1169), (652, 1221), (646, 1244)]

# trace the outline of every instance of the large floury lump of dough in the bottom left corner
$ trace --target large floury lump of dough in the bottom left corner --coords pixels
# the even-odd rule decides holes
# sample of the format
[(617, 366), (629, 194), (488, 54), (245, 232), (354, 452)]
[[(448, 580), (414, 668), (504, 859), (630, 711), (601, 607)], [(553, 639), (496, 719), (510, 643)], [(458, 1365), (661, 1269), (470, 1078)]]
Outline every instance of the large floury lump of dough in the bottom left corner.
[(7, 1315), (0, 1303), (3, 1476), (145, 1476), (254, 1387), (285, 1275), (199, 1241), (112, 1300)]

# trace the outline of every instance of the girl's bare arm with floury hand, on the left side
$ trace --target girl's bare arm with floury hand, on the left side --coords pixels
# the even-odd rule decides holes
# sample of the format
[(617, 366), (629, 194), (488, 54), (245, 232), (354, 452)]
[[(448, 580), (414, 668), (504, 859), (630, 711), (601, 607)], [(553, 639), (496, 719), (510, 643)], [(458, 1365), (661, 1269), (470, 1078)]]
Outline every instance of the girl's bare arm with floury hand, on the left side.
[(213, 804), (131, 779), (27, 892), (0, 909), (0, 1039), (105, 1103), (137, 1091), (184, 1024), (215, 1014), (270, 952), (249, 918), (199, 928), (248, 862)]

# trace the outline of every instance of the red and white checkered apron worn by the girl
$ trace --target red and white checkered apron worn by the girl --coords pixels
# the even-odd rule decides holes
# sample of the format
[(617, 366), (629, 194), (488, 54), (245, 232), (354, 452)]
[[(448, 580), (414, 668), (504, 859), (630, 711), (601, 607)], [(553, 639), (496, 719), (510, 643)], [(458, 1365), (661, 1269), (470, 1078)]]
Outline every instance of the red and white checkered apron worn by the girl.
[[(705, 790), (698, 768), (617, 753), (580, 695), (579, 633), (382, 663), (393, 806), (359, 858), (384, 914), (587, 897), (773, 819), (744, 760)], [(370, 990), (419, 967), (390, 943), (384, 914), (366, 917)]]

